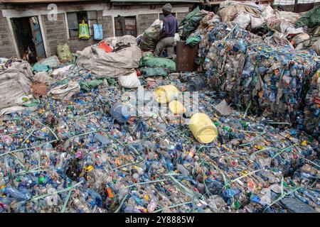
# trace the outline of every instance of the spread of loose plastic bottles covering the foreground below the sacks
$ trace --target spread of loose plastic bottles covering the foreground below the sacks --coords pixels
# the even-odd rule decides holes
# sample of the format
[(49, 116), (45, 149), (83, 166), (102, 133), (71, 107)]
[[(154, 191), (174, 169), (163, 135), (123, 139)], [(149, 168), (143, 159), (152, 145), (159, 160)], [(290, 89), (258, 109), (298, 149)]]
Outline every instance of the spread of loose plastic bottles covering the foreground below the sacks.
[[(168, 78), (157, 85), (186, 87)], [(319, 171), (318, 143), (310, 137), (239, 112), (219, 116), (212, 108), (219, 94), (201, 92), (199, 111), (219, 132), (203, 145), (181, 116), (117, 121), (111, 106), (132, 105), (123, 94), (101, 84), (70, 101), (45, 97), (37, 111), (1, 118), (0, 211), (282, 212), (288, 210), (277, 196), (297, 187), (290, 195), (318, 211), (315, 184), (287, 183), (306, 162)], [(279, 190), (284, 183), (289, 188)]]

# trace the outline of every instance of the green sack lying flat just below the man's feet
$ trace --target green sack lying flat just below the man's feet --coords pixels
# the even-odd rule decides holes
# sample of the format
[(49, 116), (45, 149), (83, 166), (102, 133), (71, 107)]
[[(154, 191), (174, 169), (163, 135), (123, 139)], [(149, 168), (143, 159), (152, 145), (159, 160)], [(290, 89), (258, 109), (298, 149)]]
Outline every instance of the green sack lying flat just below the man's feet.
[(140, 67), (165, 68), (170, 72), (176, 72), (176, 62), (164, 57), (153, 57), (146, 55), (140, 59)]

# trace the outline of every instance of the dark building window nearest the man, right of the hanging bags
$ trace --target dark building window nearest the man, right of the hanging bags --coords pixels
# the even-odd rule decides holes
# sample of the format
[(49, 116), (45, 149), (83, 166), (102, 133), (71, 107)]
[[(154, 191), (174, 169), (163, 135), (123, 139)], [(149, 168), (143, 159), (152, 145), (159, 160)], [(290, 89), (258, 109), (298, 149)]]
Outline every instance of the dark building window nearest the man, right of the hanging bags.
[(137, 37), (137, 20), (135, 16), (117, 16), (114, 18), (116, 36), (133, 35)]

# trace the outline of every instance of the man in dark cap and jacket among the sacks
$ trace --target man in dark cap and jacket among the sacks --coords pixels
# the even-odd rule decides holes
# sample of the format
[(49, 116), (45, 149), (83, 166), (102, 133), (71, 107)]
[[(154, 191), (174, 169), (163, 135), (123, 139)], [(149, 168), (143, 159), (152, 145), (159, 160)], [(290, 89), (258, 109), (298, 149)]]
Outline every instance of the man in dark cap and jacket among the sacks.
[(161, 52), (166, 49), (169, 57), (175, 60), (176, 54), (174, 53), (174, 34), (178, 33), (178, 21), (171, 14), (171, 4), (165, 4), (162, 7), (162, 12), (164, 13), (164, 27), (159, 37), (160, 40), (156, 44), (154, 56), (159, 57)]

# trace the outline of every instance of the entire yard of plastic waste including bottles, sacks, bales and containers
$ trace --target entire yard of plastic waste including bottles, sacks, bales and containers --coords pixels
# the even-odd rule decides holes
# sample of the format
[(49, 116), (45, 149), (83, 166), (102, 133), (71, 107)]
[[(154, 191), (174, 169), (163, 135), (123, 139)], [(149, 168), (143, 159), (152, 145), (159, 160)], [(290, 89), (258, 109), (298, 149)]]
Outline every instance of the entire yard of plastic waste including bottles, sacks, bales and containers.
[(196, 8), (176, 36), (193, 72), (154, 57), (159, 20), (32, 66), (0, 58), (0, 212), (318, 213), (319, 18)]

